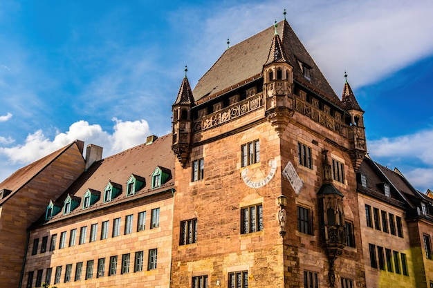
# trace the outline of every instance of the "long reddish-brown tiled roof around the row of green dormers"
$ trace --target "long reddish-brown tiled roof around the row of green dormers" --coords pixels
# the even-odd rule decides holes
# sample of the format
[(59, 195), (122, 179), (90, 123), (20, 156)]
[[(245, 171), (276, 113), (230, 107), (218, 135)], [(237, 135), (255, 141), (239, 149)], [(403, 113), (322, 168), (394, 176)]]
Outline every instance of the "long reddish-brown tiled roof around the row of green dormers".
[[(123, 188), (122, 193), (116, 199), (111, 200), (111, 202), (103, 203), (103, 200), (100, 198), (100, 200), (87, 209), (83, 210), (80, 206), (68, 215), (57, 214), (50, 221), (73, 217), (73, 215), (109, 207), (136, 197), (142, 197), (143, 195), (151, 195), (152, 193), (172, 189), (174, 187), (172, 178), (169, 178), (159, 189), (152, 190), (149, 184), (151, 183), (151, 174), (157, 166), (165, 167), (168, 171), (171, 171), (172, 175), (174, 174), (175, 157), (171, 149), (171, 140), (171, 134), (165, 135), (156, 139), (152, 144), (140, 144), (95, 162), (56, 200), (56, 203), (63, 203), (68, 194), (83, 199), (87, 189), (91, 190), (92, 193), (100, 193), (99, 191), (103, 191), (109, 181), (113, 186), (121, 186), (120, 188)], [(139, 176), (140, 180), (146, 180), (146, 186), (136, 192), (136, 195), (127, 198), (126, 183), (131, 175), (141, 175)], [(39, 221), (44, 221), (44, 219), (41, 218)]]

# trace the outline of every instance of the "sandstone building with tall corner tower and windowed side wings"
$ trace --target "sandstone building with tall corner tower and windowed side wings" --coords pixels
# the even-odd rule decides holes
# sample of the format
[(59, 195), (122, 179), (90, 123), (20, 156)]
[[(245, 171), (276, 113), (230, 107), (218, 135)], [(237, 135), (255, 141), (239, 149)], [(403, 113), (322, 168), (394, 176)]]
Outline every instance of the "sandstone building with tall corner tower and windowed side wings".
[[(44, 177), (35, 217), (3, 224), (24, 241), (10, 285), (433, 285), (432, 198), (366, 157), (364, 111), (342, 88), (285, 19), (228, 48), (194, 89), (185, 75), (171, 134), (104, 159), (71, 144), (74, 177)], [(32, 173), (0, 184), (2, 218)]]

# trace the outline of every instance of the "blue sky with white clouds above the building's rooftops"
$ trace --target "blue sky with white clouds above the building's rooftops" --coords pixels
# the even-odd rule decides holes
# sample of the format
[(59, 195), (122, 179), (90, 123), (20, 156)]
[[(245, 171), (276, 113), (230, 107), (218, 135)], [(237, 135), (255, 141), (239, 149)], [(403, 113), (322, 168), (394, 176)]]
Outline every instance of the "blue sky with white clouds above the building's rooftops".
[(433, 189), (433, 1), (0, 0), (0, 182), (76, 139), (107, 157), (171, 131), (227, 48), (286, 19), (335, 90), (344, 71), (369, 155)]

